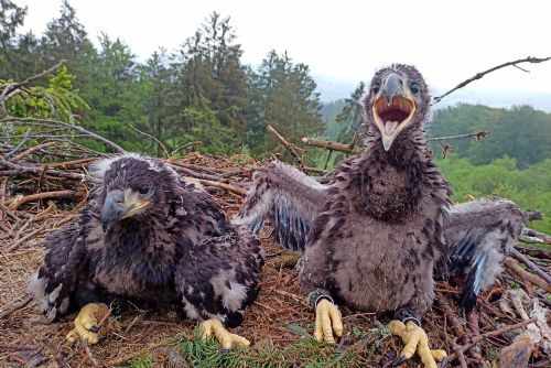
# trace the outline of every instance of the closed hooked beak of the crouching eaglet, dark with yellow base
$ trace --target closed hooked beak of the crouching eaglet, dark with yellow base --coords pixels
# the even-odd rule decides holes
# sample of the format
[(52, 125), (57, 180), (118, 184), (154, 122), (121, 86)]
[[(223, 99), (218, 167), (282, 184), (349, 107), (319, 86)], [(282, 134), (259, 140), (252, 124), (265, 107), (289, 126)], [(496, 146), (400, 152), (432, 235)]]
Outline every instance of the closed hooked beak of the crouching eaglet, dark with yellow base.
[(130, 188), (107, 193), (101, 208), (101, 227), (107, 231), (114, 223), (131, 217), (149, 206), (149, 201), (140, 201), (139, 194)]

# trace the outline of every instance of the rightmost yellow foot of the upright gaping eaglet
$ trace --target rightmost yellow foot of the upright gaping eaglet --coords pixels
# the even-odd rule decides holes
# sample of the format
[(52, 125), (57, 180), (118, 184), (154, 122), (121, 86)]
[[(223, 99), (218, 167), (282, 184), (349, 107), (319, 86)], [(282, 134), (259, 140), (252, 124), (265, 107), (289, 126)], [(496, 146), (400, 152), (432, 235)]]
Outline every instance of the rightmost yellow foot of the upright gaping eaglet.
[(392, 335), (400, 336), (403, 344), (406, 344), (401, 358), (393, 361), (392, 367), (397, 367), (410, 359), (415, 350), (426, 368), (436, 368), (436, 360), (441, 361), (447, 356), (444, 350), (431, 350), (429, 348), (429, 336), (413, 321), (408, 321), (406, 324), (401, 321), (391, 321), (388, 327)]

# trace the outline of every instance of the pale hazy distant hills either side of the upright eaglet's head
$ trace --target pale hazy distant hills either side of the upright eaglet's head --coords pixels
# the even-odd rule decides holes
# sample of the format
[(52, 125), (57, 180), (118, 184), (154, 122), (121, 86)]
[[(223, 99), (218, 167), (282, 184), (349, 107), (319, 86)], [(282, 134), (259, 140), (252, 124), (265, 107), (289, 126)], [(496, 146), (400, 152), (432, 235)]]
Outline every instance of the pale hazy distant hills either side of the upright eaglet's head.
[[(321, 94), (323, 102), (335, 101), (349, 97), (359, 84), (359, 80), (337, 79), (322, 75), (313, 75), (313, 77), (317, 84), (317, 91)], [(433, 90), (433, 94), (439, 95), (443, 91), (443, 89), (436, 88)], [(529, 105), (537, 110), (551, 112), (551, 91), (500, 91), (463, 88), (444, 98), (442, 102), (435, 106), (435, 108), (440, 109), (449, 106), (455, 106), (460, 102), (505, 108)]]

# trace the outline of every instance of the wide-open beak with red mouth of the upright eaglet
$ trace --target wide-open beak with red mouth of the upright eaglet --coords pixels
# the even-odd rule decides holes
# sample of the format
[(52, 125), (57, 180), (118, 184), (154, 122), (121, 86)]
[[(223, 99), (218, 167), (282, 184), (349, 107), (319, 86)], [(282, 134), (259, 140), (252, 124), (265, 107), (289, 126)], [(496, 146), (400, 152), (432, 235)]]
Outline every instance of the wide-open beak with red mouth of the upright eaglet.
[(390, 150), (396, 137), (411, 123), (414, 112), (415, 100), (403, 87), (402, 78), (396, 73), (387, 75), (372, 106), (385, 151)]

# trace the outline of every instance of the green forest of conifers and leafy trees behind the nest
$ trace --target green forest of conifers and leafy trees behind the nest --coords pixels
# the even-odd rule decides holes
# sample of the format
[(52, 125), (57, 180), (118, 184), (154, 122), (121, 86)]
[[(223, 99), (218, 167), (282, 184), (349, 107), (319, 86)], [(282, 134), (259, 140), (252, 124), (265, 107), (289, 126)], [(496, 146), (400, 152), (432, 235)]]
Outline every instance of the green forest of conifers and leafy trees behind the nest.
[[(229, 18), (213, 12), (180, 48), (159, 47), (140, 62), (123, 40), (102, 33), (99, 47), (69, 4), (41, 35), (21, 34), (26, 9), (2, 1), (0, 79), (22, 80), (60, 61), (66, 66), (36, 80), (25, 97), (11, 99), (10, 116), (55, 118), (79, 125), (129, 151), (174, 156), (201, 142), (205, 153), (245, 153), (256, 159), (291, 156), (268, 132), (272, 126), (293, 144), (302, 137), (349, 143), (361, 129), (358, 101), (365, 82), (347, 99), (322, 104), (307, 65), (267, 50), (258, 67), (241, 62), (242, 48)], [(50, 96), (41, 98), (41, 94)], [(437, 108), (437, 106), (436, 106)], [(18, 139), (23, 131), (2, 131)], [(8, 130), (7, 130), (8, 129)], [(534, 228), (551, 232), (551, 113), (529, 106), (497, 109), (457, 105), (436, 109), (429, 136), (489, 131), (484, 141), (453, 141), (434, 159), (455, 190), (455, 201), (497, 195), (544, 212)], [(19, 136), (18, 136), (19, 134)], [(97, 141), (75, 134), (96, 151)], [(309, 150), (305, 160), (329, 169), (343, 155)]]

